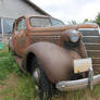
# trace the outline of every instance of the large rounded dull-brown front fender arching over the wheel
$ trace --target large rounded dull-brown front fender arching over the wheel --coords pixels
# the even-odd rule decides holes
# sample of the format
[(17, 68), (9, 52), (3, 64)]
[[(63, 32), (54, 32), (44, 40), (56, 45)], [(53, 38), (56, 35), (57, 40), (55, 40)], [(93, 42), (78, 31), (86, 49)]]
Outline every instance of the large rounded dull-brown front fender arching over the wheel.
[[(55, 84), (70, 79), (73, 70), (73, 54), (75, 55), (75, 52), (70, 52), (51, 42), (36, 42), (27, 48), (23, 59), (24, 66), (30, 52), (37, 57), (50, 82)], [(79, 58), (77, 53), (76, 55)]]

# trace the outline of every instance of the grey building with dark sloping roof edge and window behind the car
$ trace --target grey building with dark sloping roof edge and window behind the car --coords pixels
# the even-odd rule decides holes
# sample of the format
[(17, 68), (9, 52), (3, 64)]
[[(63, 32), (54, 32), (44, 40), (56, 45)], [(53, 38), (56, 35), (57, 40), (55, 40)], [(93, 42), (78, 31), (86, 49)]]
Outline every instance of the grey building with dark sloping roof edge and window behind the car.
[(25, 14), (49, 15), (29, 0), (0, 0), (0, 36), (11, 35), (14, 20)]

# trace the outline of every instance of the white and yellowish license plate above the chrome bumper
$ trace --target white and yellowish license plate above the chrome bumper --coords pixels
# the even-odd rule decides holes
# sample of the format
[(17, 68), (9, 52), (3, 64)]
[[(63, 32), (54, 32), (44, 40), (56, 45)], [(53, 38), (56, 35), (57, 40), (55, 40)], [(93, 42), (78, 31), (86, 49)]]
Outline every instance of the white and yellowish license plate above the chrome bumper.
[(74, 73), (83, 73), (92, 68), (91, 58), (74, 60)]

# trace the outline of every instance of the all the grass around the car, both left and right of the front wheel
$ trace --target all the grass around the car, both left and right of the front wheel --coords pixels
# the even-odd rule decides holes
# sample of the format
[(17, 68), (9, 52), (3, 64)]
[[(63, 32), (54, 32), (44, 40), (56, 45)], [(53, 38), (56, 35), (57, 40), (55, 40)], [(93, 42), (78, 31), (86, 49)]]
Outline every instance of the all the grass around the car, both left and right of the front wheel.
[[(21, 72), (8, 48), (0, 51), (0, 100), (38, 100), (33, 78)], [(86, 88), (62, 93), (53, 100), (100, 100), (100, 85), (92, 92)]]

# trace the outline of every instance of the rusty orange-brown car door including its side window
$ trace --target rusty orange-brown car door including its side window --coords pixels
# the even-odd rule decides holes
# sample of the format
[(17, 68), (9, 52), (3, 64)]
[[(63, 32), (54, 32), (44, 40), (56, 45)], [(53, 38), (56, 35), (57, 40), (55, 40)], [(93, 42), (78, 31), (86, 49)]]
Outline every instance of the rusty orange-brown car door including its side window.
[(21, 17), (16, 21), (13, 35), (14, 51), (21, 57), (26, 49), (26, 20), (24, 17)]

